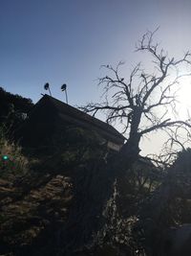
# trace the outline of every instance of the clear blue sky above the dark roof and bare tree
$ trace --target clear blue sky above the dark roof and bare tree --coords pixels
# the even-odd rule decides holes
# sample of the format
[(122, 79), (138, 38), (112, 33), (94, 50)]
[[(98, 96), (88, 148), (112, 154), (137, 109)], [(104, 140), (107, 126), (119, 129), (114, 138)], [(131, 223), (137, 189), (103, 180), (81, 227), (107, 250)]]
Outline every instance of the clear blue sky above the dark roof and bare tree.
[(160, 26), (172, 55), (191, 48), (190, 0), (0, 0), (0, 86), (35, 103), (49, 81), (55, 98), (98, 100), (101, 64), (139, 60), (135, 44)]

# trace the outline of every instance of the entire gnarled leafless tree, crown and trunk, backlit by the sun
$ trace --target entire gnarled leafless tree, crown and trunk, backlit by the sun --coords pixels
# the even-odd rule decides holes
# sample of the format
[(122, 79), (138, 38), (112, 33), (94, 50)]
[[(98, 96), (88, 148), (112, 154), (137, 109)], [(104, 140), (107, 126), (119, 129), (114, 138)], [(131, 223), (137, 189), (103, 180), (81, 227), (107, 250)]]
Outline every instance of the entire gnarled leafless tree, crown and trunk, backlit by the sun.
[[(183, 76), (191, 75), (191, 72), (182, 73), (183, 68), (186, 70), (185, 66), (191, 70), (191, 53), (186, 52), (179, 59), (169, 58), (168, 54), (159, 48), (159, 44), (154, 43), (154, 35), (155, 32), (147, 32), (142, 36), (136, 47), (137, 52), (145, 53), (151, 59), (153, 64), (151, 72), (143, 69), (142, 64), (138, 63), (130, 73), (129, 79), (126, 79), (120, 75), (122, 62), (119, 62), (116, 68), (111, 65), (104, 65), (103, 67), (106, 68), (109, 74), (99, 79), (98, 82), (103, 86), (102, 102), (97, 104), (90, 103), (81, 107), (84, 111), (92, 113), (93, 116), (100, 111), (106, 113), (106, 121), (109, 124), (119, 124), (122, 128), (122, 133), (127, 138), (120, 153), (117, 154), (117, 158), (113, 157), (107, 164), (104, 163), (104, 166), (97, 169), (94, 174), (87, 172), (82, 177), (84, 180), (88, 180), (88, 182), (83, 182), (83, 191), (86, 191), (90, 198), (96, 198), (96, 203), (90, 204), (90, 200), (84, 197), (83, 207), (80, 206), (74, 211), (76, 216), (81, 216), (80, 223), (84, 223), (84, 226), (87, 226), (88, 220), (94, 220), (94, 223), (96, 223), (96, 228), (94, 228), (93, 222), (91, 222), (92, 225), (88, 227), (88, 234), (96, 234), (98, 230), (104, 230), (103, 226), (106, 226), (106, 230), (109, 230), (108, 226), (110, 224), (113, 230), (116, 230), (111, 221), (113, 217), (110, 215), (104, 217), (104, 209), (114, 194), (114, 184), (117, 184), (117, 205), (120, 204), (122, 200), (120, 184), (124, 180), (126, 171), (128, 169), (131, 170), (138, 159), (139, 142), (143, 136), (153, 131), (164, 130), (169, 135), (168, 145), (178, 144), (183, 146), (180, 143), (180, 129), (186, 131), (186, 135), (190, 134), (190, 120), (181, 120), (177, 113), (176, 96), (180, 79)], [(168, 155), (164, 156), (168, 157)], [(153, 157), (151, 158), (153, 159)], [(147, 159), (150, 160), (149, 157)], [(158, 158), (156, 162), (160, 164), (162, 159)], [(89, 179), (87, 175), (90, 175)], [(147, 175), (142, 177), (141, 174), (138, 174), (138, 178), (140, 188), (148, 181), (152, 187), (152, 174), (149, 174), (149, 177)], [(98, 187), (97, 183), (99, 184)], [(82, 189), (81, 184), (82, 182), (80, 182), (80, 189)], [(161, 189), (161, 191), (166, 190)], [(132, 199), (131, 205), (133, 203)], [(130, 206), (130, 199), (126, 206)], [(122, 207), (125, 207), (124, 203)], [(134, 208), (132, 207), (132, 209)], [(88, 209), (88, 216), (84, 216), (86, 210), (79, 209)], [(120, 214), (122, 212), (124, 211), (121, 211)], [(113, 214), (112, 210), (111, 213)], [(135, 214), (134, 210), (132, 214)], [(95, 216), (99, 216), (99, 218), (97, 219)], [(107, 224), (107, 221), (110, 224)], [(122, 221), (120, 222), (122, 223)], [(83, 228), (83, 230), (85, 229)], [(82, 236), (83, 230), (80, 230), (80, 236)], [(100, 234), (102, 233), (100, 232)], [(109, 230), (108, 234), (108, 239), (110, 240), (111, 238), (111, 241), (113, 241), (115, 234), (113, 235), (111, 230)], [(88, 235), (88, 237), (91, 236)]]

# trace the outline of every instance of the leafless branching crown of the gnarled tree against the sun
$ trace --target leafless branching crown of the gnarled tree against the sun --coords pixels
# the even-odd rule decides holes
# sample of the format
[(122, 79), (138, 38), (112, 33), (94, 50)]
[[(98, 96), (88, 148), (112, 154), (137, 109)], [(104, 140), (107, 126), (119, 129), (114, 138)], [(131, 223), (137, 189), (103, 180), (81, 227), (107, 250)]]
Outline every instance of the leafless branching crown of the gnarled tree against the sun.
[(127, 142), (122, 148), (124, 153), (130, 149), (138, 154), (140, 138), (153, 131), (165, 130), (173, 138), (168, 140), (172, 146), (178, 143), (178, 135), (173, 134), (180, 131), (180, 128), (188, 134), (191, 128), (190, 120), (180, 120), (176, 111), (180, 79), (191, 75), (190, 72), (182, 73), (185, 65), (186, 69), (191, 67), (191, 53), (186, 52), (179, 59), (169, 58), (159, 48), (159, 44), (154, 42), (155, 33), (147, 32), (136, 46), (136, 52), (149, 55), (153, 71), (145, 71), (141, 63), (138, 63), (127, 80), (119, 74), (123, 62), (119, 62), (117, 68), (104, 65), (110, 74), (98, 82), (103, 85), (104, 100), (82, 107), (94, 116), (98, 111), (103, 111), (108, 123), (123, 126), (122, 133), (127, 136)]

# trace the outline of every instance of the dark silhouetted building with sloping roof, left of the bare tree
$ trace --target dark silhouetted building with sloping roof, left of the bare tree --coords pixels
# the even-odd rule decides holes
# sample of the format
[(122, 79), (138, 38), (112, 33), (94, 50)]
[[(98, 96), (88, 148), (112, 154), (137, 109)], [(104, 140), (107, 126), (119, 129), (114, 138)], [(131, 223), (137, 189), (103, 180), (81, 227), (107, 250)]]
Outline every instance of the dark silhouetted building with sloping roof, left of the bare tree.
[(96, 131), (102, 142), (114, 151), (119, 151), (125, 140), (116, 128), (49, 95), (33, 106), (29, 118), (17, 129), (16, 137), (24, 146), (47, 145), (54, 134), (59, 136), (67, 126)]

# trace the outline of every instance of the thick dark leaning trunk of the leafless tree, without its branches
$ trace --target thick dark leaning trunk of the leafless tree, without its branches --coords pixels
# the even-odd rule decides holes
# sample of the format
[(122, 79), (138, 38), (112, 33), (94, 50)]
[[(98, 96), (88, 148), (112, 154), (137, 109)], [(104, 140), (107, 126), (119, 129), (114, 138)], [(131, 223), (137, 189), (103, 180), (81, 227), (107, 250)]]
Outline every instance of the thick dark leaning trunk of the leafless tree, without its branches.
[(115, 180), (120, 182), (125, 171), (138, 159), (140, 117), (141, 112), (138, 111), (133, 117), (129, 140), (119, 153), (108, 159), (108, 164), (96, 162), (77, 170), (74, 176), (74, 205), (63, 230), (63, 255), (75, 255), (72, 251), (83, 251), (82, 248), (93, 245), (94, 235), (107, 222), (103, 211), (113, 195)]

